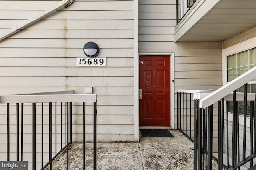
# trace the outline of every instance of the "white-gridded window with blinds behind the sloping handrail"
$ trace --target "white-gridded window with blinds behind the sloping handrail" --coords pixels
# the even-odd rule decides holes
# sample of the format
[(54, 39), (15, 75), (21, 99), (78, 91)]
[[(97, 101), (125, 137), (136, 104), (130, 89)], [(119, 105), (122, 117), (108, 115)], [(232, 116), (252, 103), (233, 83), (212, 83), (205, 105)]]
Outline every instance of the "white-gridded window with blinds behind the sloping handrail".
[[(227, 57), (227, 80), (234, 80), (238, 76), (256, 66), (256, 48), (242, 51)], [(256, 79), (248, 83), (248, 93), (255, 93)], [(237, 92), (244, 92), (244, 86), (238, 89)], [(255, 104), (255, 103), (254, 103)], [(238, 102), (239, 114), (244, 114), (244, 102)], [(250, 115), (250, 104), (247, 103), (247, 115)], [(233, 102), (228, 102), (228, 111), (233, 111)]]

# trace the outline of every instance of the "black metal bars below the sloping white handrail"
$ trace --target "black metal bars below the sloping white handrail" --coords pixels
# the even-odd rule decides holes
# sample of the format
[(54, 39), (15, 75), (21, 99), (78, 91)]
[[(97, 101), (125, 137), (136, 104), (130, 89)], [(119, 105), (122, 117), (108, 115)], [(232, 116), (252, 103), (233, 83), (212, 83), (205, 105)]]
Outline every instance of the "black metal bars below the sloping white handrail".
[[(194, 170), (211, 170), (214, 157), (218, 160), (219, 170), (234, 170), (242, 166), (255, 169), (253, 159), (256, 158), (256, 92), (248, 93), (247, 84), (244, 85), (244, 93), (236, 91), (220, 99), (217, 110), (213, 104), (200, 108), (200, 100), (194, 100)], [(233, 105), (232, 113), (228, 108), (230, 101)], [(239, 104), (241, 101), (243, 106)], [(239, 107), (244, 108), (244, 114), (239, 114)], [(247, 111), (250, 112), (249, 115)], [(214, 124), (214, 115), (218, 117), (217, 125)], [(247, 121), (250, 122), (249, 125)], [(214, 139), (218, 139), (215, 144)], [(213, 149), (214, 145), (218, 146), (217, 150)]]

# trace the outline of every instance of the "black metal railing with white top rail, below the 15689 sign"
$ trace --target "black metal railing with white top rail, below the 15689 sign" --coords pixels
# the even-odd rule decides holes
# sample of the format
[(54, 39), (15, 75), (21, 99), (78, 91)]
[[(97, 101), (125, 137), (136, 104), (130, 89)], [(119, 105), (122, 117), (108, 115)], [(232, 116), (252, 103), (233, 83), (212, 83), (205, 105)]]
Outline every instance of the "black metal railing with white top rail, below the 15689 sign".
[[(47, 166), (52, 169), (52, 161), (64, 151), (67, 157), (66, 169), (68, 169), (68, 151), (72, 143), (72, 107), (82, 107), (85, 144), (85, 103), (88, 102), (93, 103), (93, 110), (89, 111), (94, 115), (93, 164), (96, 169), (96, 94), (70, 94), (70, 91), (67, 94), (58, 92), (57, 94), (48, 93), (48, 95), (0, 96), (1, 114), (6, 114), (7, 125), (7, 137), (4, 137), (7, 139), (7, 147), (6, 152), (1, 153), (1, 160), (28, 161), (28, 169), (33, 170), (44, 169)], [(3, 113), (4, 105), (6, 105), (6, 113)], [(85, 158), (85, 149), (83, 154)], [(83, 167), (85, 169), (85, 160)]]

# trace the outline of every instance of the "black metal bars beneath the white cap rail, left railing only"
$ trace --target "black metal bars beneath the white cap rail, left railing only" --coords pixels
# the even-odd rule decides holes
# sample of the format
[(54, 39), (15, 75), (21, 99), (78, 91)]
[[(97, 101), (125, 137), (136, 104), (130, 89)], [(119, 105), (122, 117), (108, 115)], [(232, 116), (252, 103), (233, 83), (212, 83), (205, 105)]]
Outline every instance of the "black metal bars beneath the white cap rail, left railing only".
[[(65, 95), (62, 95), (62, 96), (66, 97)], [(75, 97), (76, 95), (72, 95), (72, 96)], [(0, 96), (0, 98), (2, 99), (2, 96)], [(75, 100), (74, 102), (81, 102), (80, 100), (83, 100), (83, 99), (78, 97), (78, 100)], [(89, 102), (87, 100), (84, 100), (84, 101)], [(86, 154), (85, 153), (85, 102), (82, 102), (83, 169), (85, 169), (85, 154)], [(94, 169), (96, 169), (97, 103), (96, 103), (96, 100), (91, 102), (93, 102), (93, 114), (94, 114), (93, 165), (94, 165)], [(1, 100), (1, 103), (5, 103), (5, 102), (2, 102)], [(37, 104), (34, 102), (30, 104), (28, 102), (24, 102), (24, 103), (10, 104), (9, 102), (6, 102), (6, 106), (7, 106), (6, 107), (6, 116), (7, 116), (6, 160), (7, 161), (28, 161), (30, 162), (30, 164), (32, 163), (32, 168), (31, 167), (30, 168), (33, 170), (44, 169), (47, 166), (50, 166), (50, 169), (52, 169), (52, 163), (54, 158), (56, 158), (58, 154), (60, 154), (63, 150), (65, 150), (66, 159), (67, 159), (66, 169), (69, 169), (69, 145), (72, 143), (72, 106), (73, 106), (72, 102), (58, 102), (58, 103), (42, 102)], [(16, 108), (14, 109), (14, 107)], [(26, 109), (24, 109), (25, 107)], [(13, 113), (14, 110), (16, 112), (16, 123), (14, 123), (12, 119), (10, 119), (10, 116), (13, 118), (13, 115), (15, 114)], [(24, 123), (24, 121), (28, 122), (28, 120), (24, 119), (25, 114), (26, 114), (26, 118), (32, 119), (31, 124)], [(46, 118), (46, 116), (48, 117)], [(16, 131), (14, 131), (14, 128), (13, 128), (14, 126), (16, 127)], [(32, 129), (32, 138), (30, 137), (30, 139), (28, 139), (28, 136), (29, 136), (28, 133), (30, 133), (28, 131), (31, 131), (31, 129)], [(41, 130), (41, 132), (38, 132), (38, 130), (36, 129), (39, 129), (39, 131)], [(26, 134), (24, 133), (24, 131), (26, 131)], [(48, 137), (46, 137), (46, 135), (48, 135)], [(13, 142), (10, 143), (10, 141), (15, 141), (13, 140), (15, 136), (16, 136), (16, 152), (14, 151)], [(40, 137), (40, 140), (38, 137)], [(26, 142), (24, 142), (25, 138), (26, 138)], [(30, 141), (28, 142), (28, 140)], [(27, 151), (24, 152), (24, 144), (30, 145), (30, 148), (32, 148), (32, 153), (31, 153), (32, 156), (31, 155), (29, 156)], [(46, 144), (48, 144), (47, 148), (46, 148)], [(38, 148), (41, 148), (41, 149), (38, 149)], [(38, 152), (40, 152), (40, 156)], [(46, 160), (46, 156), (44, 156), (46, 152), (48, 152), (48, 160)], [(26, 154), (26, 156), (24, 155), (24, 153)], [(14, 154), (16, 154), (15, 156), (16, 158), (14, 158)], [(41, 159), (38, 157), (41, 157)], [(40, 161), (38, 161), (38, 159), (40, 159)], [(40, 162), (40, 168), (39, 168), (38, 162)]]

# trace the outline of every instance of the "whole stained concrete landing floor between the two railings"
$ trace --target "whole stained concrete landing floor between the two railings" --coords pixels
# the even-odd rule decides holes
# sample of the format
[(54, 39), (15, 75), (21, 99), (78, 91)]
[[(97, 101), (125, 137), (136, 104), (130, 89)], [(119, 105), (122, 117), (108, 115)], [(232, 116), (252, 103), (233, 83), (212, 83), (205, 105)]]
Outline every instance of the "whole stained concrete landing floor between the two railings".
[[(192, 170), (192, 142), (182, 133), (170, 130), (174, 138), (140, 138), (139, 143), (97, 143), (98, 170)], [(69, 169), (81, 170), (82, 143), (69, 149)], [(93, 169), (92, 143), (86, 143), (86, 170)], [(49, 168), (46, 168), (49, 169)], [(66, 169), (66, 152), (53, 162), (54, 170)]]

